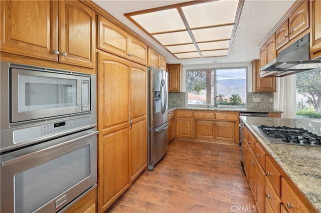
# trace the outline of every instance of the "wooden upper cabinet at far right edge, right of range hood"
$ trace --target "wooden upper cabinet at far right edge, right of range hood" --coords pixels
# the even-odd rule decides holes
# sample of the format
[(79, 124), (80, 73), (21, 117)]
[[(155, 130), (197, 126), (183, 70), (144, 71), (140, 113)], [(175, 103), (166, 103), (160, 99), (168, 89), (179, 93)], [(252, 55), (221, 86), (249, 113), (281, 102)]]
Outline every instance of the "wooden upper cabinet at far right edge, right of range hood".
[(310, 58), (321, 56), (321, 1), (310, 0)]

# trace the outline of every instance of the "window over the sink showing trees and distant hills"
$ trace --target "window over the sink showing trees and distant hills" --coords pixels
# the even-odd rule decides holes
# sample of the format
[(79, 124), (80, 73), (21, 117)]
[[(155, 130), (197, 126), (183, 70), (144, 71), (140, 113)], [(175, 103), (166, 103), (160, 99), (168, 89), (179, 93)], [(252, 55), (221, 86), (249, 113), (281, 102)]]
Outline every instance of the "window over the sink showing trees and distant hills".
[[(186, 70), (187, 104), (233, 107), (247, 105), (248, 67)], [(221, 96), (217, 97), (217, 96)], [(217, 97), (215, 102), (215, 97)]]

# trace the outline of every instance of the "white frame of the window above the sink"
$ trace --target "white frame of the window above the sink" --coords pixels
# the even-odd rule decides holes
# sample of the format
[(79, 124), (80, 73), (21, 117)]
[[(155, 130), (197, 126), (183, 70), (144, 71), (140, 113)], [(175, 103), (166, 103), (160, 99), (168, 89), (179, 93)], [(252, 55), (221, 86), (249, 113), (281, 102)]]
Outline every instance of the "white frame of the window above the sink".
[[(217, 69), (245, 69), (245, 87), (246, 87), (246, 105), (218, 105), (218, 108), (246, 108), (248, 106), (248, 80), (249, 80), (249, 67), (245, 65), (241, 66), (222, 66), (222, 67), (202, 67), (202, 68), (186, 68), (185, 71), (185, 105), (189, 107), (210, 107), (214, 108), (214, 104), (189, 104), (188, 103), (188, 71), (199, 70), (199, 71), (206, 71), (206, 70), (213, 70), (214, 72), (214, 82), (216, 82), (216, 70)], [(214, 91), (216, 94), (216, 85)], [(215, 95), (216, 96), (216, 95)]]

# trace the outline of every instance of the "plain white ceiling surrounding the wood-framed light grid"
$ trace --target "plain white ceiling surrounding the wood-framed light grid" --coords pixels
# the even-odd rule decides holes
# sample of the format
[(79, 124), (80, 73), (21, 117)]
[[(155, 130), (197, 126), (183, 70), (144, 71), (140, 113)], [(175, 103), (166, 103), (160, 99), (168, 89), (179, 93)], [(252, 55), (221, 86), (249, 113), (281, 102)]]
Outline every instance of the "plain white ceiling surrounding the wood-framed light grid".
[[(258, 44), (270, 32), (294, 0), (245, 0), (239, 24), (231, 46), (230, 54), (221, 57), (177, 59), (165, 47), (139, 29), (124, 13), (166, 6), (188, 0), (93, 0), (107, 12), (137, 32), (148, 42), (162, 50), (168, 63), (208, 64), (229, 62), (248, 62), (259, 58)], [(166, 17), (165, 17), (166, 18)], [(171, 20), (168, 20), (171, 21)]]

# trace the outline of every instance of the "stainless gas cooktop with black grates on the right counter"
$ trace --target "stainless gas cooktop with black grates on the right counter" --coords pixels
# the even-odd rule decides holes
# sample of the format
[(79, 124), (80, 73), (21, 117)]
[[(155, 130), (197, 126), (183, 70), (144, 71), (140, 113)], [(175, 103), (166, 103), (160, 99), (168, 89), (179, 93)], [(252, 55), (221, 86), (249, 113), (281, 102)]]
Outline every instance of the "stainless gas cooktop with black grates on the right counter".
[(253, 127), (271, 143), (321, 147), (321, 135), (313, 134), (304, 128), (266, 125), (253, 125)]

